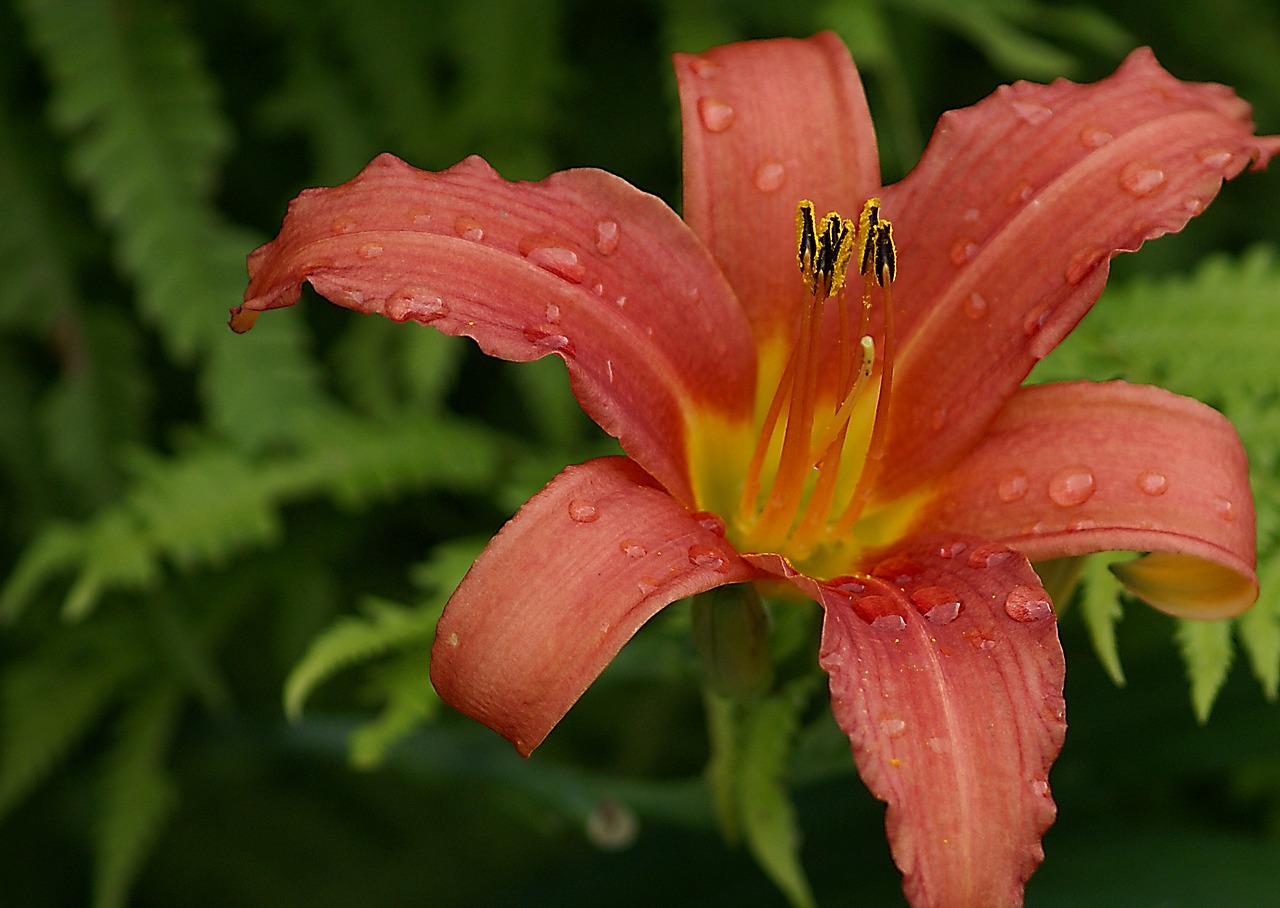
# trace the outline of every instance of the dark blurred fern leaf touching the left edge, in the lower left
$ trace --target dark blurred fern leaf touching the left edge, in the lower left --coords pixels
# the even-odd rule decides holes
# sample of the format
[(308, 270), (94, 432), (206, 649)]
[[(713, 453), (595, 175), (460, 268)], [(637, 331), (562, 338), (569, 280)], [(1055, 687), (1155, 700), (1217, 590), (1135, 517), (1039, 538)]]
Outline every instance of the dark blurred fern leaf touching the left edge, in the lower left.
[(100, 720), (146, 662), (127, 616), (72, 628), (0, 674), (0, 818)]

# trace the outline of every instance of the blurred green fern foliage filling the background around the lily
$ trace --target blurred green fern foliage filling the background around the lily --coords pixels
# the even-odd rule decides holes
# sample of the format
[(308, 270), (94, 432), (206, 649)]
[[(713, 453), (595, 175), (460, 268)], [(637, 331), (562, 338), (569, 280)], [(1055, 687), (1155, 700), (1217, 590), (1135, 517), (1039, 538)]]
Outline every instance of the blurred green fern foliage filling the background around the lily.
[[(562, 465), (609, 450), (557, 364), (321, 305), (225, 328), (285, 202), (379, 151), (603, 166), (678, 205), (669, 53), (826, 27), (887, 179), (941, 110), (1098, 78), (1137, 44), (1280, 132), (1270, 0), (0, 0), (0, 903), (782, 904), (754, 853), (797, 903), (901, 904), (812, 613), (774, 611), (780, 693), (750, 708), (704, 703), (680, 606), (531, 761), (439, 708), (449, 590)], [(1274, 903), (1280, 182), (1240, 182), (1117, 260), (1039, 373), (1158, 382), (1236, 421), (1263, 598), (1175, 625), (1085, 566), (1030, 905)], [(717, 818), (744, 799), (767, 818), (735, 849)]]

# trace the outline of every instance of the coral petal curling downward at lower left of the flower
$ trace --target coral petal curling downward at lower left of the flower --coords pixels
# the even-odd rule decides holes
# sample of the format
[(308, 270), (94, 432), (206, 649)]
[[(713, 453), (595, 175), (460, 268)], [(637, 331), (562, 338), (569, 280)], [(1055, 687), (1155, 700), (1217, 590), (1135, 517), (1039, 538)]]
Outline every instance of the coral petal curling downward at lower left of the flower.
[(755, 576), (718, 529), (626, 457), (566, 469), (453, 593), (431, 683), (527, 757), (659, 608)]

